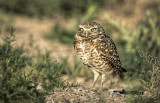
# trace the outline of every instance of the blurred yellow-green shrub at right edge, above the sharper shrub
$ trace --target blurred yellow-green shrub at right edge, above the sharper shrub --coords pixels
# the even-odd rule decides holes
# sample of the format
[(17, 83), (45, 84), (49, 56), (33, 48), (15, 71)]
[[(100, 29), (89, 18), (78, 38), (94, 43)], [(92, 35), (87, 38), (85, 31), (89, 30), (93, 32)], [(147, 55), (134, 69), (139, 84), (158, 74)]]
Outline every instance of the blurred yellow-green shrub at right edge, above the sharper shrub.
[(139, 43), (139, 45), (138, 47), (134, 45), (134, 48), (141, 49), (152, 56), (160, 56), (160, 18), (158, 18), (160, 14), (147, 11), (146, 16), (146, 21), (139, 24), (137, 29), (135, 42)]

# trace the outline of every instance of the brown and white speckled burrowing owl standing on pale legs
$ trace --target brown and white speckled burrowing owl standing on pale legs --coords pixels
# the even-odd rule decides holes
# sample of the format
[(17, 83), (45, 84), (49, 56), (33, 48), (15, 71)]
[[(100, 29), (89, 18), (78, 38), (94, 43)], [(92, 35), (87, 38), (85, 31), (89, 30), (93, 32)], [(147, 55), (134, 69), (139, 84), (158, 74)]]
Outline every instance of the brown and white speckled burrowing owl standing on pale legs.
[(101, 75), (101, 88), (105, 81), (105, 75), (116, 73), (123, 78), (121, 61), (116, 46), (111, 38), (105, 35), (103, 27), (96, 22), (86, 22), (79, 25), (74, 39), (74, 48), (83, 64), (94, 73), (93, 86)]

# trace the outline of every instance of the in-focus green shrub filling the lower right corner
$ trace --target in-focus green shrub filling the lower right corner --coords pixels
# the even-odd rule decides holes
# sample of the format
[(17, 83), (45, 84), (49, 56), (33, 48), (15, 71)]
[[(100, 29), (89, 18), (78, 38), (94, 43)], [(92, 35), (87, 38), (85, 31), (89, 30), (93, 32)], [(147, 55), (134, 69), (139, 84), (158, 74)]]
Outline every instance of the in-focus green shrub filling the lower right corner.
[[(146, 78), (139, 78), (141, 85), (135, 91), (136, 95), (130, 95), (129, 103), (159, 103), (160, 102), (160, 60), (149, 54), (141, 52), (141, 58), (146, 66), (150, 68), (143, 75)], [(142, 73), (141, 73), (142, 74)]]

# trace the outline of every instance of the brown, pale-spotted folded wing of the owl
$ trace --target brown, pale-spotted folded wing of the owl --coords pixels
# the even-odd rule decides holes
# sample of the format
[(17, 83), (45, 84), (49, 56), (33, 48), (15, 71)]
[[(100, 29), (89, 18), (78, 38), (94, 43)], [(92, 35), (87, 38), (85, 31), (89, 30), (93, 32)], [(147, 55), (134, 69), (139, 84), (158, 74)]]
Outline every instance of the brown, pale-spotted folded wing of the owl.
[(121, 67), (121, 61), (119, 59), (119, 55), (117, 53), (116, 45), (112, 41), (111, 38), (105, 36), (101, 41), (101, 53), (103, 55), (103, 60), (109, 62), (112, 67)]

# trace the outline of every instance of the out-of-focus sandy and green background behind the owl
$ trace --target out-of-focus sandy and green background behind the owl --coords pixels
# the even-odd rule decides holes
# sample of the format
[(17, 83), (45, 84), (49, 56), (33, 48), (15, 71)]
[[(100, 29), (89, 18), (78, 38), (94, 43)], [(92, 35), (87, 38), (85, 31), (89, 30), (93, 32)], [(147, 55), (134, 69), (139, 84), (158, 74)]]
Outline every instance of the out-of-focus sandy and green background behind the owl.
[(73, 50), (77, 27), (86, 21), (100, 23), (115, 42), (126, 83), (150, 80), (152, 66), (144, 59), (160, 57), (160, 0), (0, 0), (0, 42), (14, 27), (16, 45), (32, 55), (50, 51), (64, 66), (64, 80), (92, 82)]

